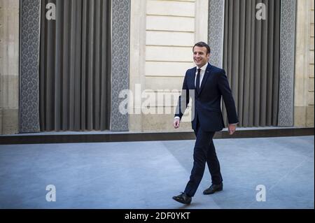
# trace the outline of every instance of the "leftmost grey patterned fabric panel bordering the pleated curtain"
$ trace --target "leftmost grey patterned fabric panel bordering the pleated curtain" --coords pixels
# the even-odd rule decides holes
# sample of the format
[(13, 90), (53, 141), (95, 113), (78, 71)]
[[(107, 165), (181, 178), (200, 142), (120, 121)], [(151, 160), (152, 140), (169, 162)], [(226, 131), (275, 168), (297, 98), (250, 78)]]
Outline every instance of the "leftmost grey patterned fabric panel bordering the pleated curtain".
[(39, 131), (40, 0), (20, 1), (20, 132)]

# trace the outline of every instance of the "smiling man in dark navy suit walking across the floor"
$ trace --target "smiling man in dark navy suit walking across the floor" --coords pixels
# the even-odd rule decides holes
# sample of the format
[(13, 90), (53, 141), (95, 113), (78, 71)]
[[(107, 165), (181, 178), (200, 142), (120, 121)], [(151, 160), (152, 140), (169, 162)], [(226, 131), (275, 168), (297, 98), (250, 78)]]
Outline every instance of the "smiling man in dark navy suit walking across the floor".
[(186, 71), (174, 117), (174, 128), (177, 129), (190, 99), (189, 92), (193, 90), (195, 94), (193, 96), (195, 115), (192, 127), (196, 135), (193, 169), (184, 192), (173, 197), (175, 201), (184, 204), (189, 204), (195, 195), (204, 175), (206, 162), (211, 174), (212, 184), (208, 189), (204, 190), (204, 194), (214, 194), (223, 190), (220, 164), (212, 141), (215, 132), (224, 128), (221, 96), (223, 96), (228, 113), (228, 131), (230, 135), (234, 134), (236, 124), (239, 122), (235, 101), (225, 71), (209, 64), (209, 57), (210, 47), (207, 43), (199, 42), (194, 45), (193, 59), (196, 66)]

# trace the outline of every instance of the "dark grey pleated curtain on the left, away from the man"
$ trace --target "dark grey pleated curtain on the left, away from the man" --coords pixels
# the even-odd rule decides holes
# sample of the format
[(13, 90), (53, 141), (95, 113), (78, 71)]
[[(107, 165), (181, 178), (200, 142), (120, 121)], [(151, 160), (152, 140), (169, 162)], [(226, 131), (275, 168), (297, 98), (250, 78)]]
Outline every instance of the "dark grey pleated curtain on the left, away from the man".
[[(48, 3), (55, 20), (48, 20)], [(111, 1), (42, 0), (41, 131), (109, 129)]]

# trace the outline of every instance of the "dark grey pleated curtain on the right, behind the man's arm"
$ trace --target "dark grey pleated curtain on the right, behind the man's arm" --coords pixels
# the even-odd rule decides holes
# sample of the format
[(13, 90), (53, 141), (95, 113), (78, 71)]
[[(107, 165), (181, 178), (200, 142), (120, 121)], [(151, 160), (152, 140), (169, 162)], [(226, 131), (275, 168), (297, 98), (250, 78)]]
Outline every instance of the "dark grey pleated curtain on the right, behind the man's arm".
[[(256, 17), (257, 5), (265, 20)], [(280, 6), (279, 0), (225, 0), (223, 68), (241, 127), (278, 124)]]

